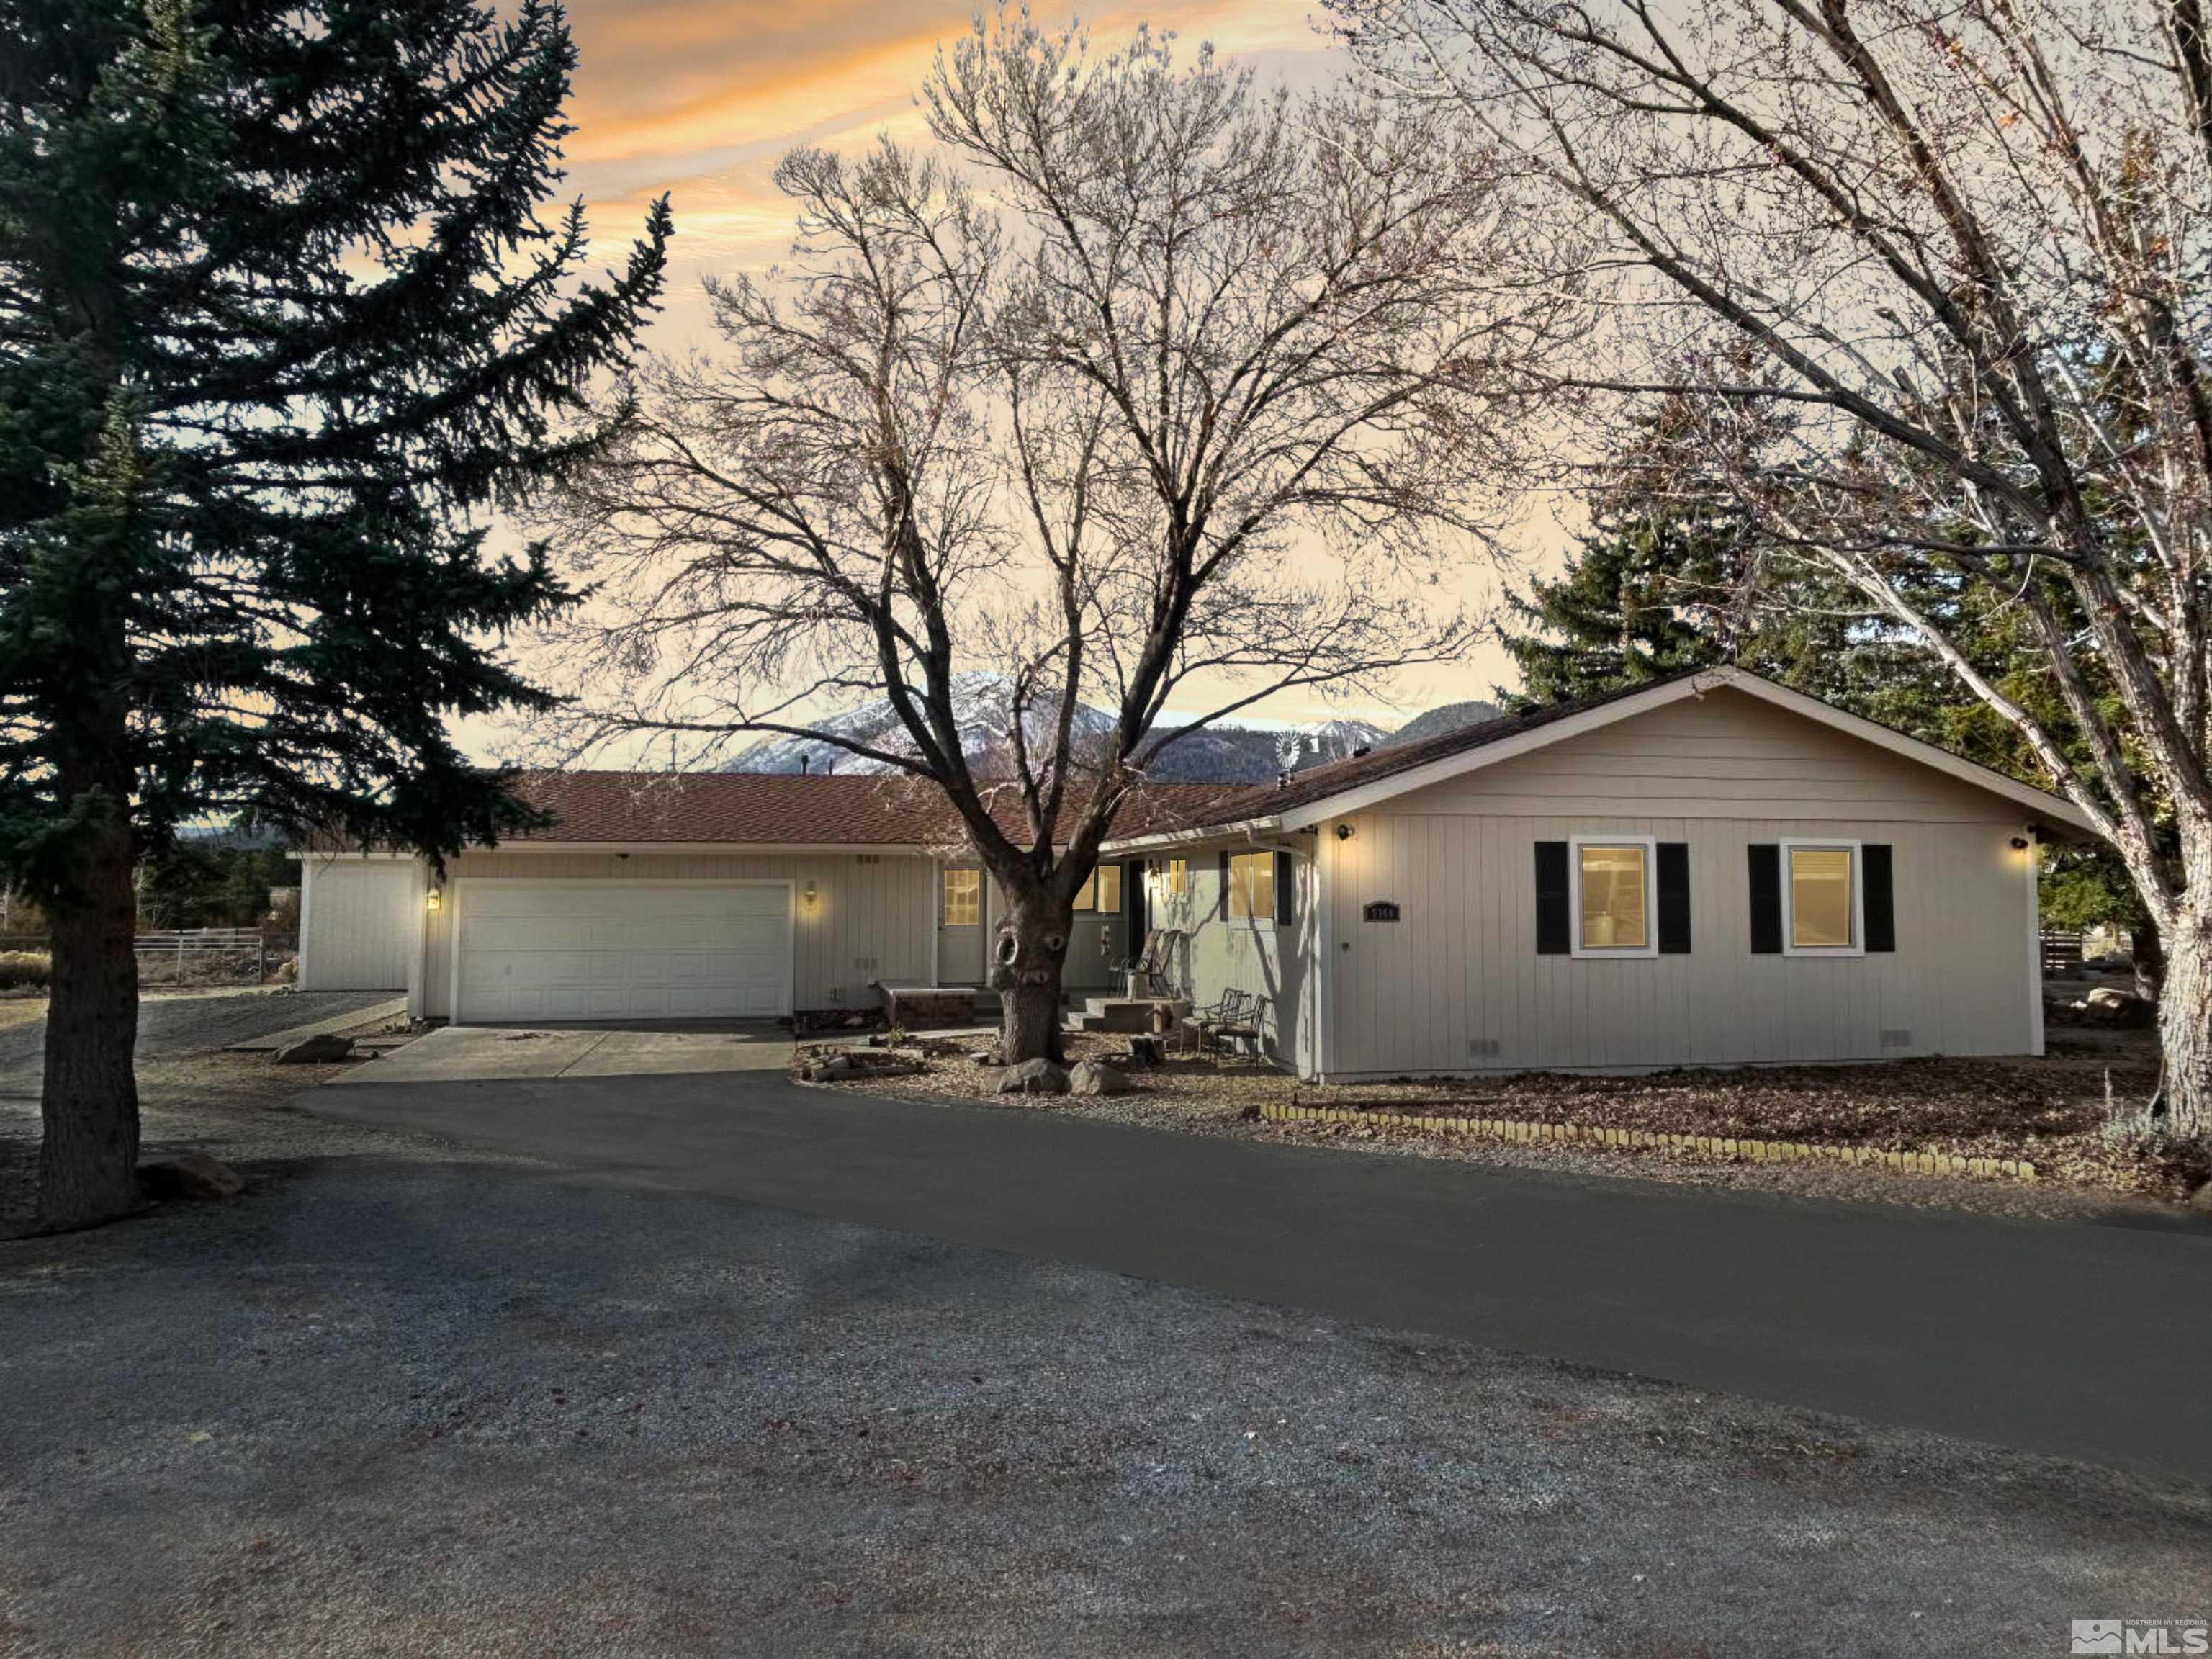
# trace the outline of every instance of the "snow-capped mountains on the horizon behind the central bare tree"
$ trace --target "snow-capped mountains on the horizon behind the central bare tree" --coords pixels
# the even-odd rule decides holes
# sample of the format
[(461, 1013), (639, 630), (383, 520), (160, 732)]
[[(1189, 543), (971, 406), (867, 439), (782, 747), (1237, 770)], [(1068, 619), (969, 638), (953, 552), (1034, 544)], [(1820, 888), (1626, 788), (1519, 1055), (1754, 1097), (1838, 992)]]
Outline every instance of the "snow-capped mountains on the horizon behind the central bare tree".
[[(1480, 717), (1484, 719), (1498, 712), (1489, 703), (1453, 703), (1451, 710), (1433, 710), (1433, 714), (1458, 710), (1482, 710)], [(971, 765), (980, 770), (1006, 765), (1011, 712), (1006, 708), (1006, 679), (1002, 675), (962, 675), (953, 686), (953, 714), (960, 723), (960, 741)], [(1425, 714), (1422, 721), (1427, 719), (1431, 717)], [(891, 754), (909, 748), (898, 714), (891, 712), (889, 699), (883, 697), (816, 721), (816, 726), (823, 732), (849, 737)], [(1051, 728), (1051, 710), (1029, 712), (1029, 732), (1033, 737), (1046, 737)], [(1110, 732), (1113, 714), (1091, 703), (1077, 706), (1077, 745), (1104, 741)], [(1170, 743), (1152, 765), (1152, 776), (1161, 783), (1272, 783), (1279, 772), (1303, 772), (1325, 761), (1343, 761), (1358, 750), (1383, 748), (1389, 741), (1389, 728), (1360, 719), (1329, 719), (1285, 728), (1206, 726)], [(889, 765), (821, 739), (776, 737), (748, 748), (730, 761), (728, 770), (880, 774)]]

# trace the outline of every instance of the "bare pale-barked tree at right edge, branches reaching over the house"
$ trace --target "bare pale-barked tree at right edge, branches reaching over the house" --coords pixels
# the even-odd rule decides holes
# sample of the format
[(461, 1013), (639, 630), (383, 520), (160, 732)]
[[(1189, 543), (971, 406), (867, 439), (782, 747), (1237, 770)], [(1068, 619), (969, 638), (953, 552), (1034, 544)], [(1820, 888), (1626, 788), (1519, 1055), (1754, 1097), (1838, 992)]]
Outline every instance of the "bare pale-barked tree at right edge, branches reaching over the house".
[[(1694, 409), (1686, 489), (1849, 582), (2008, 719), (2168, 949), (2170, 1128), (2212, 1130), (2212, 49), (2197, 0), (1340, 0), (1597, 250), (1573, 376)], [(1787, 440), (1730, 458), (1761, 411)], [(1927, 595), (1944, 602), (1929, 606)], [(2057, 717), (1944, 613), (2015, 615)]]

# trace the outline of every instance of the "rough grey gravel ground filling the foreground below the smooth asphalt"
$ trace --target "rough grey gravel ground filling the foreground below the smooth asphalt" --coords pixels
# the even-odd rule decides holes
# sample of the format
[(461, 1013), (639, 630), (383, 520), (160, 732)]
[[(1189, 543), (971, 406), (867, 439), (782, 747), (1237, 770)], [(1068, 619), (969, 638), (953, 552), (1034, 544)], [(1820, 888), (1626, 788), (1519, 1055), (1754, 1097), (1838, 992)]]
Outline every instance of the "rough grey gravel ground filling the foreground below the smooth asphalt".
[[(0, 1650), (2064, 1652), (2212, 1493), (562, 1177), (155, 1066), (0, 1245)], [(24, 1141), (20, 1106), (0, 1137)]]

